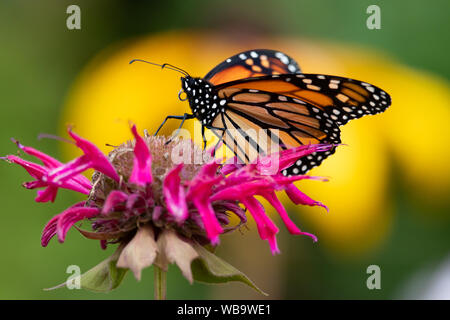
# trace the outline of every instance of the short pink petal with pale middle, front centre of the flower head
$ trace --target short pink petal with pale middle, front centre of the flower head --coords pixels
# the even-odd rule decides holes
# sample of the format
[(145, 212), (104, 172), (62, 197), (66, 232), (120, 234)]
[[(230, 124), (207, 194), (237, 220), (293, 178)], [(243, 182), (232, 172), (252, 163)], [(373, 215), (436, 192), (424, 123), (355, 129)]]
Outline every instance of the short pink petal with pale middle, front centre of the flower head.
[(167, 210), (178, 223), (182, 223), (188, 216), (186, 194), (180, 179), (182, 169), (183, 164), (181, 163), (167, 173), (163, 182), (163, 194)]

